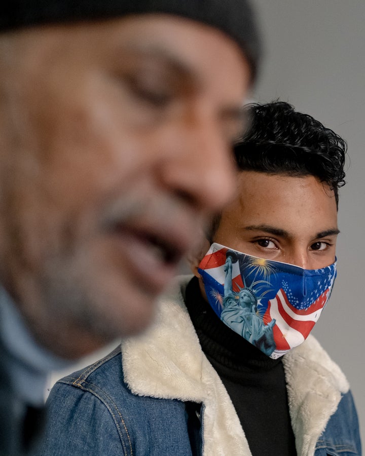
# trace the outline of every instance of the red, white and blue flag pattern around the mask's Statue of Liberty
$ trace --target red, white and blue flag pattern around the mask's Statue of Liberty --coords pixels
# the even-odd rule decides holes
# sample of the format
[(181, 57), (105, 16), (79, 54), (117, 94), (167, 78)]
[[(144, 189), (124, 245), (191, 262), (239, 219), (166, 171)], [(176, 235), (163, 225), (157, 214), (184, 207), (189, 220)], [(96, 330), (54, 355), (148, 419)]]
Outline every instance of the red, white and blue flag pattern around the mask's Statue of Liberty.
[[(212, 244), (199, 265), (207, 297), (218, 316), (222, 313), (227, 247)], [(336, 278), (336, 262), (319, 270), (305, 270), (278, 261), (262, 260), (236, 252), (238, 261), (232, 264), (232, 289), (238, 292), (250, 287), (258, 298), (258, 310), (273, 327), (276, 350), (271, 357), (286, 353), (302, 344), (326, 305)], [(262, 283), (266, 282), (264, 293)], [(260, 283), (256, 287), (255, 283)], [(221, 297), (221, 298), (220, 298)]]

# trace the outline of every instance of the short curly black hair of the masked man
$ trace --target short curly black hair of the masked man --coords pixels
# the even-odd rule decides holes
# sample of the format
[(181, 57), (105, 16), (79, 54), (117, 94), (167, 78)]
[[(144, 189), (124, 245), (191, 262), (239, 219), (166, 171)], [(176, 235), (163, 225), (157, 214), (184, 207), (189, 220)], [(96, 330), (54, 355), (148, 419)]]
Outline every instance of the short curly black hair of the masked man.
[(308, 114), (283, 101), (249, 104), (250, 127), (235, 145), (240, 170), (316, 176), (334, 191), (345, 184), (347, 144)]

